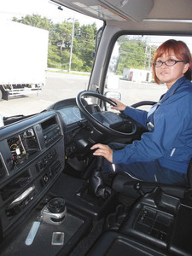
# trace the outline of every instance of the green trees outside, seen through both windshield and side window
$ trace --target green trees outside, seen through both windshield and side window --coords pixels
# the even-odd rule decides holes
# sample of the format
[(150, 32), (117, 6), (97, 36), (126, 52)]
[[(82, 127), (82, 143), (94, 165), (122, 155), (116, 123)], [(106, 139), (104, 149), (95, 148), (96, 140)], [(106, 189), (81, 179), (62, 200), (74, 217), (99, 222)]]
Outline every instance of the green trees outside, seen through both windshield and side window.
[[(90, 72), (95, 51), (96, 23), (80, 26), (76, 20), (67, 20), (54, 24), (46, 17), (26, 15), (21, 20), (13, 18), (30, 26), (49, 30), (48, 67), (69, 70), (70, 50), (71, 70)], [(74, 24), (73, 24), (74, 22)], [(151, 67), (152, 57), (156, 47), (148, 45), (141, 36), (121, 36), (118, 40), (120, 57), (116, 60), (113, 71), (123, 74), (124, 67), (147, 69)]]

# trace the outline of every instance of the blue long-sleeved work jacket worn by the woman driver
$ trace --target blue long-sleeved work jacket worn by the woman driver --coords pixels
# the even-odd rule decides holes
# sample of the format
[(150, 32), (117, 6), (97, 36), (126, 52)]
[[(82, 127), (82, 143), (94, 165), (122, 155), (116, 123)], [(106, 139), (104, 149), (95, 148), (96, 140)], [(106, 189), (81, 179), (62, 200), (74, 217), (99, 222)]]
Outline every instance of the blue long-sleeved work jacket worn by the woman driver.
[[(159, 160), (176, 172), (186, 173), (192, 157), (192, 83), (178, 79), (162, 97), (154, 113), (126, 107), (126, 115), (152, 131), (140, 141), (113, 151), (114, 164), (131, 164)], [(153, 127), (154, 126), (154, 127)]]

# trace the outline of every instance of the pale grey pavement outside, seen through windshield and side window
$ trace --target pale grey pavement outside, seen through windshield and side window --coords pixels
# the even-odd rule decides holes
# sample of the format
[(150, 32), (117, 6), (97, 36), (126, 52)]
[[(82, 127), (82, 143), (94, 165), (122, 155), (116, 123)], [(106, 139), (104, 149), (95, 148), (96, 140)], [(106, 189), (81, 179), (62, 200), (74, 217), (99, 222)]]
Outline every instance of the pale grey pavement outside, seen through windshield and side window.
[[(38, 96), (10, 97), (9, 101), (0, 102), (0, 113), (3, 116), (11, 116), (41, 112), (53, 102), (77, 96), (79, 91), (87, 88), (88, 82), (88, 76), (47, 73), (46, 85)], [(129, 105), (143, 100), (157, 101), (165, 89), (164, 85), (136, 84), (122, 80), (119, 82), (122, 102)]]

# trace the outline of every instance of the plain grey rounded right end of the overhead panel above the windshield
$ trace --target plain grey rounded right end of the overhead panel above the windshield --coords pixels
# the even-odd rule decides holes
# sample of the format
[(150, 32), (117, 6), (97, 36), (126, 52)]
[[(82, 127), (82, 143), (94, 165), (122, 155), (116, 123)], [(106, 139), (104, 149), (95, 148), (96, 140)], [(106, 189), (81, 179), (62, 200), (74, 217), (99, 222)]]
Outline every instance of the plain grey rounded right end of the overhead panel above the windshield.
[(127, 20), (142, 21), (154, 7), (154, 0), (100, 0), (103, 6)]

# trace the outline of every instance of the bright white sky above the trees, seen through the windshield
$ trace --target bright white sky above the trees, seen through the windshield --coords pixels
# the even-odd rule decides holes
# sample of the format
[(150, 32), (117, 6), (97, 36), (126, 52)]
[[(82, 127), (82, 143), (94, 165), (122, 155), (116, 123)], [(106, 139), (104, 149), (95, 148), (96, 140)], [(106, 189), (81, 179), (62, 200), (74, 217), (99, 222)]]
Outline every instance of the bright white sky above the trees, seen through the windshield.
[[(12, 20), (15, 17), (28, 15), (41, 15), (47, 17), (53, 22), (58, 23), (69, 18), (79, 20), (80, 25), (92, 24), (95, 19), (84, 17), (84, 15), (73, 13), (70, 9), (59, 10), (58, 5), (50, 3), (49, 0), (0, 0), (0, 19)], [(98, 28), (102, 26), (102, 21), (96, 22)]]

